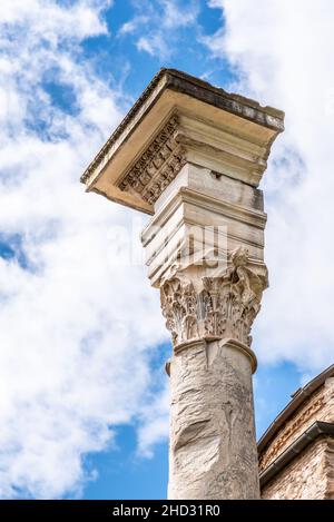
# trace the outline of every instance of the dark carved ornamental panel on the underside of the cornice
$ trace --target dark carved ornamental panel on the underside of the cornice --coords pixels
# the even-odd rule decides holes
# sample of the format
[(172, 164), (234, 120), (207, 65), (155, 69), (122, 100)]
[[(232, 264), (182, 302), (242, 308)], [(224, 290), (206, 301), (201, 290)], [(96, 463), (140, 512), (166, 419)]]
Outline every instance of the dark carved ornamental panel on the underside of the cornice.
[(119, 185), (153, 205), (186, 164), (185, 149), (176, 141), (174, 115)]

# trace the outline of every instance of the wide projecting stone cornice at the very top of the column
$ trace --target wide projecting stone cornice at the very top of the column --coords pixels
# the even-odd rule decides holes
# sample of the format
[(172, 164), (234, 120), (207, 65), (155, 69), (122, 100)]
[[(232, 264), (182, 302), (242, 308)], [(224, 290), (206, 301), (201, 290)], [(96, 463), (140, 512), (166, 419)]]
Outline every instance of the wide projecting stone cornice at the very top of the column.
[(256, 187), (283, 120), (279, 110), (161, 69), (81, 181), (147, 214), (186, 162)]

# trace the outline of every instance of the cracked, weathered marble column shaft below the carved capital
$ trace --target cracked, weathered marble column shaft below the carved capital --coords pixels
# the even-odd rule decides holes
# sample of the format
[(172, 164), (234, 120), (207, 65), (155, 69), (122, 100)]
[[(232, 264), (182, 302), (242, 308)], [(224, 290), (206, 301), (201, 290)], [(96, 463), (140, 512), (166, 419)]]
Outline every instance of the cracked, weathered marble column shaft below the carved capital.
[(170, 362), (169, 499), (258, 499), (252, 368), (232, 343)]

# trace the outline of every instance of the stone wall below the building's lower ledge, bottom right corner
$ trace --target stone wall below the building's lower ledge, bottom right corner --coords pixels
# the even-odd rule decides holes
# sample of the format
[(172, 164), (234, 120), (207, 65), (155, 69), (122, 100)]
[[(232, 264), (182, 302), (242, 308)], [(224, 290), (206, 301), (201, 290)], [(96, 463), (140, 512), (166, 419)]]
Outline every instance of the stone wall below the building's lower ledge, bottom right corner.
[(334, 500), (334, 441), (311, 444), (262, 491), (264, 500)]

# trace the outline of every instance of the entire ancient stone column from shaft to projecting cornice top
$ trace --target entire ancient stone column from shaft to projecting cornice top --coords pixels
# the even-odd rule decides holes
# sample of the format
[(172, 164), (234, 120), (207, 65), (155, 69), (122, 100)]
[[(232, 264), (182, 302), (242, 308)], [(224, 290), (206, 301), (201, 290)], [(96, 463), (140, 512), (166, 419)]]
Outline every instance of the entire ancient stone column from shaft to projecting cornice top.
[(82, 176), (153, 217), (171, 334), (169, 499), (259, 498), (250, 329), (267, 287), (257, 188), (282, 111), (163, 69)]

